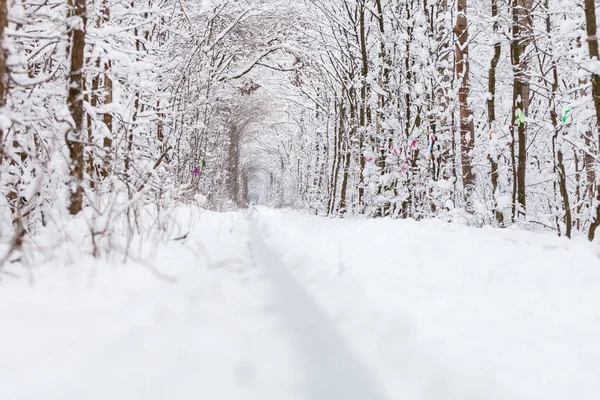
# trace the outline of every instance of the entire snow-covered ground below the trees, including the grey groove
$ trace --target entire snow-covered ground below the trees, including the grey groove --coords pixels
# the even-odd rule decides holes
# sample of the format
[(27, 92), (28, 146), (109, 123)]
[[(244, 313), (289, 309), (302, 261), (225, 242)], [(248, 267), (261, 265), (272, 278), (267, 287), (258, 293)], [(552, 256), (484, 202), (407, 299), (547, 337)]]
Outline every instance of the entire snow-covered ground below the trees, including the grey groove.
[(3, 399), (592, 399), (600, 259), (427, 221), (203, 212), (147, 266), (0, 283)]

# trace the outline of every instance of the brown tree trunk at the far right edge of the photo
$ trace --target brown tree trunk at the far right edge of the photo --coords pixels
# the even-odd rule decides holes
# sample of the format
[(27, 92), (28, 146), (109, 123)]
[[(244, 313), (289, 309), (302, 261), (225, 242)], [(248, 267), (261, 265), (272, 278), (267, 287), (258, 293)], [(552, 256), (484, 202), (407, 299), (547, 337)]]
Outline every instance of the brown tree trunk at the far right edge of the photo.
[[(596, 2), (594, 0), (585, 0), (585, 25), (587, 33), (588, 50), (590, 59), (599, 60), (598, 55), (598, 37), (596, 36)], [(596, 135), (598, 145), (600, 146), (600, 77), (592, 74), (592, 96), (594, 98), (594, 108), (596, 109)], [(600, 147), (599, 147), (600, 148)], [(598, 174), (596, 174), (598, 175)], [(596, 178), (597, 179), (597, 178)], [(596, 188), (596, 209), (594, 210), (594, 220), (590, 224), (588, 239), (594, 240), (596, 229), (600, 225), (600, 190)]]

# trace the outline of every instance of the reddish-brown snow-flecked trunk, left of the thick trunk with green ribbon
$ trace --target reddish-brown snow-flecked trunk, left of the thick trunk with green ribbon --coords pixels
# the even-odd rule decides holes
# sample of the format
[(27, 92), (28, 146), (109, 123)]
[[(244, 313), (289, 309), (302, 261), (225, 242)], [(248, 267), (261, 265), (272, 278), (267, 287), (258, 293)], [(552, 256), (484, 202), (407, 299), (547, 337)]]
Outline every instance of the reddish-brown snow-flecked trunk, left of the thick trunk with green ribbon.
[[(469, 29), (467, 27), (467, 0), (457, 0), (456, 28), (456, 74), (460, 79), (458, 102), (460, 106), (461, 170), (467, 209), (471, 208), (471, 193), (475, 176), (471, 167), (472, 151), (475, 147), (473, 112), (469, 107)], [(471, 210), (472, 211), (472, 210)]]

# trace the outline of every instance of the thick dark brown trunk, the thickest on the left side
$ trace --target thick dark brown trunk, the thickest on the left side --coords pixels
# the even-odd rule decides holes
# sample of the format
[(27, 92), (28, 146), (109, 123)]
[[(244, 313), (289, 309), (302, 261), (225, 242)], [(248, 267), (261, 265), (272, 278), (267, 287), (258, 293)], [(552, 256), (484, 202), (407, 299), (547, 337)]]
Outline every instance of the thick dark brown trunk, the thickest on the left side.
[(78, 214), (83, 209), (84, 146), (83, 134), (83, 66), (85, 28), (87, 24), (86, 0), (70, 0), (72, 16), (79, 20), (71, 35), (71, 66), (69, 69), (69, 97), (67, 104), (75, 126), (67, 132), (66, 142), (71, 157), (71, 199), (69, 212)]

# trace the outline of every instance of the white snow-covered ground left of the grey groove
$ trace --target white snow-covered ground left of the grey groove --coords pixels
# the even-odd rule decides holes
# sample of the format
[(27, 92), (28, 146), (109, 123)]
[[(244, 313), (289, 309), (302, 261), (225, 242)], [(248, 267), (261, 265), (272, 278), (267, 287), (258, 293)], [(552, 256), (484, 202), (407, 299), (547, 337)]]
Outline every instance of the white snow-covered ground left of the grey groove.
[(302, 370), (246, 218), (194, 218), (155, 262), (176, 285), (89, 260), (0, 285), (0, 397), (294, 399)]

